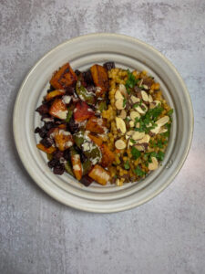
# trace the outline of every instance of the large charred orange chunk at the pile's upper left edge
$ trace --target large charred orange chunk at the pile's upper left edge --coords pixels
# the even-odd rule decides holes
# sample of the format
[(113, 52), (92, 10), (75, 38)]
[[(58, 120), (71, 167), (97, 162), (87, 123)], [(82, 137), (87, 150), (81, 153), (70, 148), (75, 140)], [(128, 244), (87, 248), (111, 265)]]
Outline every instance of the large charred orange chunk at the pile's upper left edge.
[(67, 90), (69, 86), (72, 86), (77, 81), (77, 75), (70, 67), (69, 63), (59, 68), (50, 80), (50, 84), (56, 90)]

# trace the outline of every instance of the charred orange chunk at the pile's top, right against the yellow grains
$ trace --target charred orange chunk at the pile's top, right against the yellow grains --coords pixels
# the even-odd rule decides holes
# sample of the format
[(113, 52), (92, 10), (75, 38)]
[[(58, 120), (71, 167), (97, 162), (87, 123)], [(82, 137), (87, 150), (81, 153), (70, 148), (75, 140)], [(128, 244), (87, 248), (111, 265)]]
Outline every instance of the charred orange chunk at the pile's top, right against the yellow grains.
[(90, 70), (95, 85), (101, 89), (96, 95), (97, 97), (101, 97), (109, 88), (108, 71), (100, 65), (93, 65)]

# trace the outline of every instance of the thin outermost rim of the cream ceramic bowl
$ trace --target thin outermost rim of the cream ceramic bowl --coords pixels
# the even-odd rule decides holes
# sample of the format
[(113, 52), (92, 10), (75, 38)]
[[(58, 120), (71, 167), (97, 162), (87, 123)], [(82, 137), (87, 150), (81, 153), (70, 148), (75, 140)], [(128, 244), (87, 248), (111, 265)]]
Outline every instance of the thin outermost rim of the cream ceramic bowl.
[[(132, 203), (130, 205), (122, 205), (121, 207), (114, 208), (114, 209), (113, 208), (112, 209), (102, 209), (102, 210), (100, 210), (98, 208), (97, 209), (93, 209), (93, 208), (90, 208), (90, 207), (74, 205), (73, 203), (69, 204), (69, 203), (66, 203), (65, 201), (62, 201), (57, 195), (55, 195), (52, 191), (50, 191), (49, 188), (46, 187), (46, 185), (41, 184), (40, 182), (38, 182), (36, 180), (35, 175), (30, 172), (28, 163), (26, 162), (25, 157), (21, 153), (21, 149), (20, 149), (20, 147), (18, 145), (18, 142), (17, 142), (17, 123), (15, 122), (15, 119), (16, 119), (15, 113), (16, 113), (18, 105), (19, 105), (21, 91), (24, 89), (24, 86), (26, 84), (27, 79), (29, 79), (30, 75), (36, 69), (36, 67), (41, 62), (43, 62), (45, 58), (47, 58), (50, 54), (52, 54), (54, 51), (56, 51), (58, 48), (64, 47), (67, 44), (72, 43), (74, 40), (75, 41), (77, 41), (77, 40), (80, 41), (81, 39), (85, 39), (85, 38), (89, 38), (89, 37), (99, 37), (99, 38), (100, 37), (116, 37), (116, 38), (125, 39), (127, 41), (129, 40), (129, 41), (132, 41), (134, 43), (137, 42), (141, 46), (149, 49), (149, 51), (152, 51), (155, 54), (157, 54), (159, 56), (159, 58), (162, 58), (163, 61), (165, 63), (167, 63), (167, 65), (169, 66), (169, 68), (171, 68), (171, 70), (175, 73), (176, 77), (179, 79), (180, 85), (183, 87), (183, 90), (185, 92), (186, 98), (188, 100), (188, 109), (190, 111), (190, 120), (191, 120), (191, 123), (190, 123), (190, 134), (189, 134), (189, 138), (188, 138), (187, 145), (186, 145), (186, 151), (183, 153), (183, 156), (180, 158), (178, 168), (176, 168), (174, 170), (174, 173), (171, 174), (171, 176), (169, 176), (169, 179), (166, 181), (166, 184), (162, 184), (159, 187), (158, 191), (155, 191), (154, 193), (152, 193), (152, 195), (149, 195), (149, 197), (144, 198), (141, 202), (137, 202), (136, 204)], [(167, 188), (169, 186), (169, 184), (174, 180), (174, 178), (177, 176), (177, 174), (179, 174), (179, 170), (183, 166), (183, 164), (184, 164), (184, 162), (185, 162), (185, 160), (186, 160), (186, 158), (187, 158), (187, 156), (188, 156), (188, 154), (190, 152), (190, 145), (191, 145), (191, 141), (192, 141), (192, 137), (193, 137), (193, 129), (194, 129), (194, 114), (193, 114), (192, 103), (191, 103), (191, 100), (190, 100), (190, 93), (189, 93), (189, 91), (188, 91), (188, 89), (187, 89), (187, 87), (185, 85), (184, 80), (180, 76), (179, 71), (177, 70), (177, 68), (175, 68), (174, 65), (169, 61), (169, 59), (166, 58), (162, 53), (160, 53), (159, 50), (156, 49), (155, 47), (150, 46), (149, 44), (141, 41), (140, 39), (138, 39), (136, 37), (129, 37), (127, 35), (115, 34), (115, 33), (90, 33), (90, 34), (87, 34), (87, 35), (82, 35), (82, 36), (78, 36), (78, 37), (72, 37), (70, 39), (67, 39), (63, 43), (58, 44), (56, 47), (53, 47), (51, 50), (49, 50), (42, 58), (39, 58), (38, 61), (36, 62), (36, 64), (32, 68), (30, 68), (30, 70), (27, 72), (26, 77), (23, 80), (23, 82), (22, 82), (22, 84), (20, 86), (20, 89), (18, 90), (16, 99), (15, 99), (14, 111), (13, 111), (13, 133), (14, 133), (14, 139), (15, 139), (15, 147), (16, 147), (17, 153), (18, 153), (18, 155), (19, 155), (19, 157), (21, 159), (21, 162), (23, 163), (24, 167), (26, 168), (26, 172), (31, 176), (31, 178), (36, 182), (36, 184), (38, 186), (40, 186), (40, 188), (43, 189), (46, 192), (46, 194), (50, 195), (52, 198), (56, 199), (58, 202), (60, 202), (60, 203), (62, 203), (64, 205), (72, 206), (73, 208), (76, 208), (78, 210), (82, 210), (82, 211), (86, 211), (86, 212), (95, 212), (95, 213), (114, 213), (114, 212), (125, 211), (125, 210), (128, 210), (128, 209), (134, 208), (134, 207), (136, 207), (138, 205), (142, 205), (142, 204), (148, 202), (149, 200), (151, 200), (153, 197), (159, 195), (165, 188)]]

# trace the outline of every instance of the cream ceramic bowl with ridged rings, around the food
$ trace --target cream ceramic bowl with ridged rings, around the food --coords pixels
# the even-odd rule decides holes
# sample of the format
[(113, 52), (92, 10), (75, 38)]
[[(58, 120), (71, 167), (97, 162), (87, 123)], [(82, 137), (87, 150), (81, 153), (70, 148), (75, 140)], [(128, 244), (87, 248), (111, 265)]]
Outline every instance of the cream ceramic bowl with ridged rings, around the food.
[[(47, 167), (46, 155), (36, 149), (38, 137), (34, 130), (40, 124), (40, 117), (35, 110), (46, 93), (46, 83), (61, 65), (68, 61), (74, 69), (86, 69), (108, 60), (115, 61), (120, 68), (145, 69), (159, 81), (174, 109), (169, 146), (159, 169), (139, 183), (85, 187), (68, 174), (57, 176)], [(85, 211), (122, 211), (158, 195), (179, 173), (189, 153), (192, 132), (190, 95), (176, 68), (153, 47), (122, 35), (92, 34), (55, 47), (29, 71), (15, 101), (15, 144), (27, 172), (48, 195)]]

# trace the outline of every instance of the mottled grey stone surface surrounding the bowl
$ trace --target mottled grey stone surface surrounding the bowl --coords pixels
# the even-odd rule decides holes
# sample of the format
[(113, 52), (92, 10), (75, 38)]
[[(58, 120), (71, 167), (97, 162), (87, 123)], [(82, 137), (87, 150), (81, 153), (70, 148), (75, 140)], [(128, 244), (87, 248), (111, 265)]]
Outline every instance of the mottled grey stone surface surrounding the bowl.
[[(116, 32), (148, 42), (190, 90), (189, 157), (161, 195), (128, 212), (88, 214), (60, 205), (15, 152), (17, 90), (38, 58), (70, 37)], [(204, 273), (205, 2), (0, 1), (0, 273)]]

